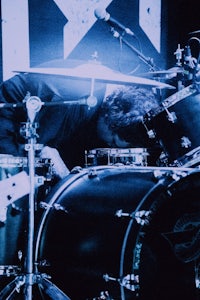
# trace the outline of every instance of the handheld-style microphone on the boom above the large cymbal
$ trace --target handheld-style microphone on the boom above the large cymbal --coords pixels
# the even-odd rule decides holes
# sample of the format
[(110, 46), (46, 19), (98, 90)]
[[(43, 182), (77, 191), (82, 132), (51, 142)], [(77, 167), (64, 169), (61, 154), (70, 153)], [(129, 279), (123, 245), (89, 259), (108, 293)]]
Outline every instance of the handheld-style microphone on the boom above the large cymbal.
[(110, 24), (111, 26), (118, 26), (120, 29), (122, 29), (123, 31), (125, 31), (127, 34), (131, 36), (135, 35), (133, 31), (131, 31), (129, 28), (125, 27), (123, 24), (121, 24), (120, 22), (112, 18), (105, 9), (96, 8), (94, 11), (94, 15), (97, 19), (103, 20), (108, 24)]

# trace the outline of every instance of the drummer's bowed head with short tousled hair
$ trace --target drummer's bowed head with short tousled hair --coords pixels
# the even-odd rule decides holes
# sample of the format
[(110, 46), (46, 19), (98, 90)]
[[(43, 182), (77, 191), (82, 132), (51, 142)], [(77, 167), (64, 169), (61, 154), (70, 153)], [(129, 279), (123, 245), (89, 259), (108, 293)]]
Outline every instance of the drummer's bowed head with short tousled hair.
[(150, 141), (142, 119), (156, 107), (158, 101), (150, 88), (120, 86), (106, 97), (100, 115), (122, 139), (134, 147), (145, 147)]

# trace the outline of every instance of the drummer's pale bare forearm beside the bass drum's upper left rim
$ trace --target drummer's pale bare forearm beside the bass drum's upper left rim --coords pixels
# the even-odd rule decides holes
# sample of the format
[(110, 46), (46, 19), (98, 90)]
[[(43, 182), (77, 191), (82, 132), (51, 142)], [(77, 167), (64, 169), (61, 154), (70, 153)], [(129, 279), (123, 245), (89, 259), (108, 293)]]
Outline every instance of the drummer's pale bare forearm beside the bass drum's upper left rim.
[(40, 152), (40, 157), (51, 159), (53, 173), (61, 179), (70, 173), (57, 149), (45, 146)]

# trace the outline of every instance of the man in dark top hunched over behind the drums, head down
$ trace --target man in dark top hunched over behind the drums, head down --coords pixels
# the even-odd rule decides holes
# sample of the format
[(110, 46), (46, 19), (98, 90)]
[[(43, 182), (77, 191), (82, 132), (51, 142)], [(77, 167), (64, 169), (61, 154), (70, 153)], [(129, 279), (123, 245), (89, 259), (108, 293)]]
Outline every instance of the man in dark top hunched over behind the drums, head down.
[(104, 83), (96, 82), (95, 105), (82, 105), (78, 99), (89, 99), (90, 85), (84, 79), (29, 73), (2, 83), (0, 99), (5, 106), (0, 109), (0, 153), (27, 156), (27, 137), (21, 125), (28, 119), (25, 104), (31, 97), (42, 102), (34, 119), (39, 126), (37, 143), (42, 145), (37, 155), (52, 160), (59, 178), (75, 166), (84, 167), (86, 150), (157, 147), (141, 122), (147, 111), (158, 106), (150, 87), (109, 85), (108, 92)]

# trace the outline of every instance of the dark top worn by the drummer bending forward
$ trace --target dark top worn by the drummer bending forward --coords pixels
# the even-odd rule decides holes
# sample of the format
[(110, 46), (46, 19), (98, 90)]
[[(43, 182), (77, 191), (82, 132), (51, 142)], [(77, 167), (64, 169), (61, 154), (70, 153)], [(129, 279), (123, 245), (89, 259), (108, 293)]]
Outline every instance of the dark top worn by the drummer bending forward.
[[(34, 119), (39, 125), (37, 143), (57, 148), (69, 167), (83, 164), (84, 150), (101, 146), (96, 137), (96, 118), (105, 84), (95, 82), (97, 105), (90, 107), (77, 103), (79, 99), (87, 99), (90, 92), (90, 80), (58, 75), (23, 73), (3, 82), (0, 102), (10, 103), (11, 107), (0, 108), (0, 153), (27, 155), (24, 150), (27, 139), (20, 133), (21, 124), (27, 121), (26, 104), (22, 107), (13, 107), (12, 104), (25, 102), (28, 93), (39, 97), (43, 103)], [(67, 100), (76, 104), (63, 104)], [(45, 105), (53, 102), (55, 105)]]

